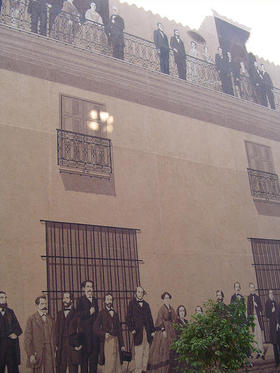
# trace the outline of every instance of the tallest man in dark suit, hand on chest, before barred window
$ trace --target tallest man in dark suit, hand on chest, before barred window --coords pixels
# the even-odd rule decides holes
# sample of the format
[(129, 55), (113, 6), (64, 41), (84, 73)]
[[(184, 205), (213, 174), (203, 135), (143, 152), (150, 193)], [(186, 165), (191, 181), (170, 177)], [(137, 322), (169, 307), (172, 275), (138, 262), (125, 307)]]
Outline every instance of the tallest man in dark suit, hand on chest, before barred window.
[(97, 373), (98, 338), (93, 333), (93, 324), (98, 315), (98, 303), (93, 296), (93, 281), (82, 282), (81, 288), (84, 295), (77, 301), (77, 312), (80, 318), (80, 327), (85, 334), (82, 373)]

